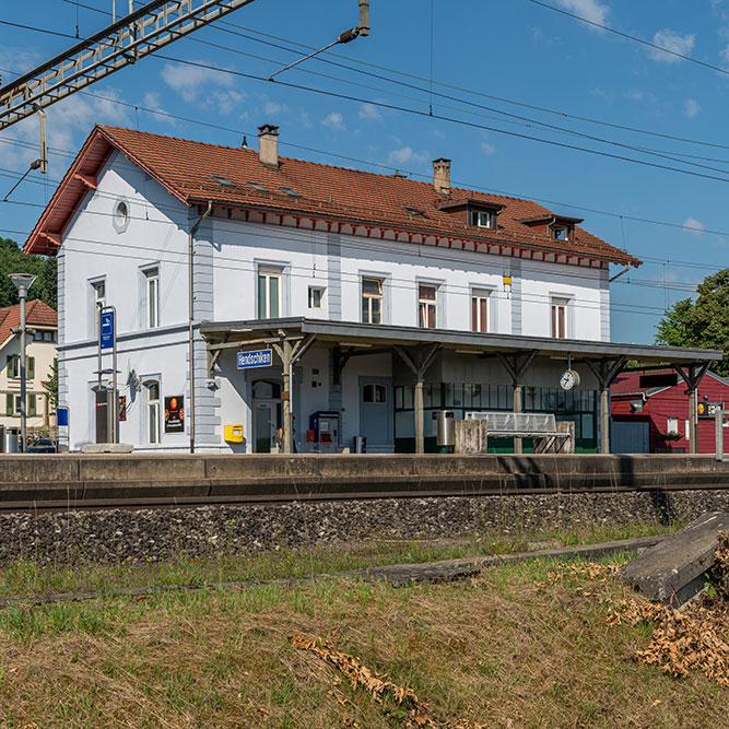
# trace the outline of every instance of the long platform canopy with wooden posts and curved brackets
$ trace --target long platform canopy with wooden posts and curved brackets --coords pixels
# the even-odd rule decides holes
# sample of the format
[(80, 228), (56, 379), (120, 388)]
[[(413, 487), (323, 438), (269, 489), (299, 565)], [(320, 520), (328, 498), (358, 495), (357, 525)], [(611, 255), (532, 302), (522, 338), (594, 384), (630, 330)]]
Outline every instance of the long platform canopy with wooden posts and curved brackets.
[[(203, 321), (200, 326), (208, 341), (208, 367), (213, 376), (215, 363), (225, 350), (249, 345), (269, 345), (281, 358), (284, 391), (289, 392), (291, 366), (316, 343), (333, 351), (333, 381), (340, 383), (342, 369), (352, 356), (395, 352), (414, 376), (415, 450), (424, 451), (423, 380), (437, 352), (457, 351), (501, 361), (512, 378), (514, 411), (521, 412), (524, 375), (538, 357), (569, 358), (585, 364), (600, 389), (600, 450), (610, 452), (610, 386), (628, 363), (640, 367), (672, 367), (683, 378), (690, 393), (692, 449), (696, 444), (696, 388), (712, 362), (722, 358), (720, 350), (683, 346), (657, 346), (521, 334), (489, 334), (447, 329), (393, 327), (289, 317), (248, 321)], [(284, 400), (284, 451), (291, 452), (291, 405)], [(515, 452), (521, 452), (521, 439), (515, 438)]]

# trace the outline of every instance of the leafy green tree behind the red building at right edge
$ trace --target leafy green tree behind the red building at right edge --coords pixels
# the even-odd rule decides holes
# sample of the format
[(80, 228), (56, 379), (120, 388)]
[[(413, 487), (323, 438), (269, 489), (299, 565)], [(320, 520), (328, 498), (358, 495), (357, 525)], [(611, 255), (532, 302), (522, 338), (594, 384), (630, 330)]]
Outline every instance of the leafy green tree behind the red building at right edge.
[(656, 327), (656, 344), (721, 350), (724, 361), (712, 364), (729, 375), (729, 269), (707, 275), (696, 287), (696, 299), (673, 304)]

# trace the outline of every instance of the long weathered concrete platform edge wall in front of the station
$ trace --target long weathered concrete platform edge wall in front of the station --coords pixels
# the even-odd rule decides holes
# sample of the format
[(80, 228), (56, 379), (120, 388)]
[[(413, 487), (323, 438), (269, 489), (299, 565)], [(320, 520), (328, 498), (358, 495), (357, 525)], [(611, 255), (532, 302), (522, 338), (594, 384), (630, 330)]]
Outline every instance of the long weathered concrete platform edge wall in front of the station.
[(477, 495), (726, 489), (713, 456), (225, 456), (0, 457), (0, 501), (408, 493)]

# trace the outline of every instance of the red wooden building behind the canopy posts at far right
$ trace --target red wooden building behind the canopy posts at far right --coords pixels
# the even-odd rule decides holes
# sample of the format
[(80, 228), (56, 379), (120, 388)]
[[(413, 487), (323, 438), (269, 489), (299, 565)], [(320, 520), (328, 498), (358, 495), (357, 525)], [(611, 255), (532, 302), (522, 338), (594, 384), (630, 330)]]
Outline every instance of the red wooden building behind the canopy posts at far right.
[[(624, 373), (613, 383), (610, 397), (612, 452), (689, 452), (689, 395), (675, 372)], [(699, 454), (715, 452), (718, 404), (729, 409), (729, 380), (707, 372), (698, 385)], [(727, 425), (725, 418), (725, 452), (729, 447)], [(677, 435), (667, 437), (669, 433)]]

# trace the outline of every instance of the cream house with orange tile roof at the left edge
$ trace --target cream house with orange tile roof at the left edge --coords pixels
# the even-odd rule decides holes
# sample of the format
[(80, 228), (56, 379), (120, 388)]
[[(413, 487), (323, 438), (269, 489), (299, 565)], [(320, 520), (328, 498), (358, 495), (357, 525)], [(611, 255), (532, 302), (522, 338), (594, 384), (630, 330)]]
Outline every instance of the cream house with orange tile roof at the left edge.
[[(56, 358), (57, 315), (39, 299), (27, 302), (25, 319), (33, 334), (26, 338), (27, 368), (27, 427), (54, 426), (55, 416), (43, 384), (51, 375)], [(21, 337), (12, 330), (20, 328), (21, 306), (0, 308), (0, 425), (20, 427), (21, 424)]]

